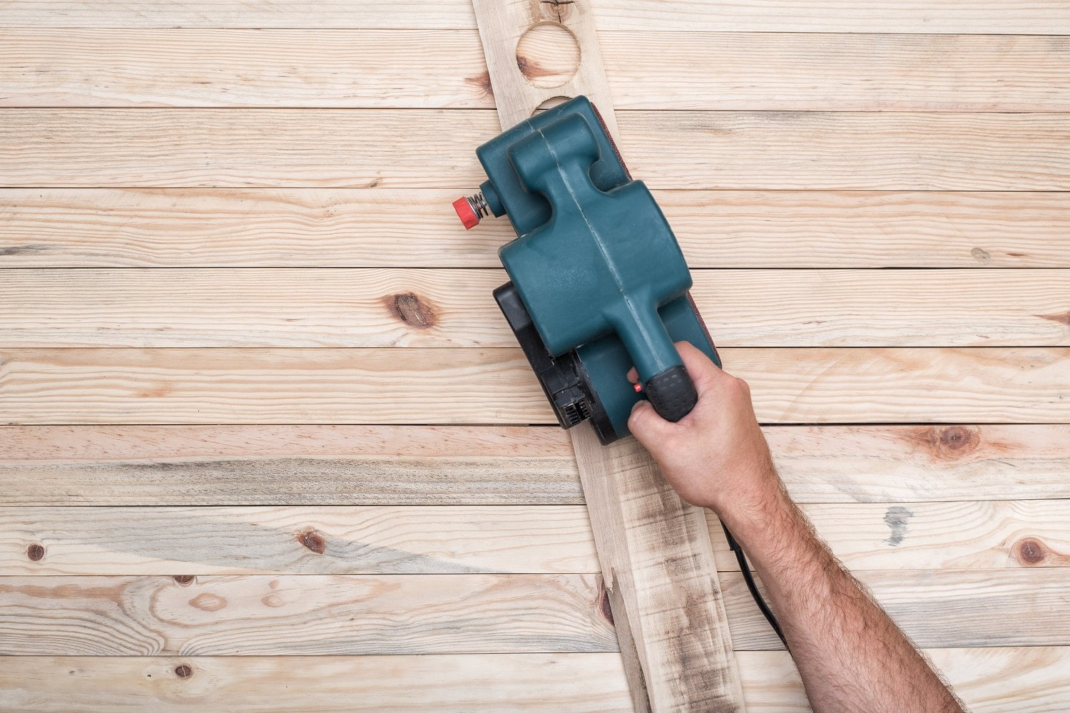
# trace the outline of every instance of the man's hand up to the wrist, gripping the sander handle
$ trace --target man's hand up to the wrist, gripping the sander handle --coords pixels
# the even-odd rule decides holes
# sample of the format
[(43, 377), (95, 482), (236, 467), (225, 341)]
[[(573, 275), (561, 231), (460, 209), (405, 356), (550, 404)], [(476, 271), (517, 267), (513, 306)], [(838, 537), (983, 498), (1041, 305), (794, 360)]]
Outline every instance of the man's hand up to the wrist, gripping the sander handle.
[[(718, 514), (754, 513), (780, 495), (769, 448), (750, 403), (750, 388), (688, 342), (676, 342), (699, 402), (676, 423), (640, 401), (628, 429), (661, 466), (681, 497)], [(638, 382), (636, 370), (628, 379)]]

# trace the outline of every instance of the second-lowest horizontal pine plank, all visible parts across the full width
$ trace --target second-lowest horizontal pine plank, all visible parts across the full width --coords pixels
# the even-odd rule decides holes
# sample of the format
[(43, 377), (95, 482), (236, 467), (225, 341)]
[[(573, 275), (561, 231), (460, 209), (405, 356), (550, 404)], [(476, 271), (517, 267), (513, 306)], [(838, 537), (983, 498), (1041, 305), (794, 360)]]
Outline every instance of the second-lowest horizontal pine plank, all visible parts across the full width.
[[(1070, 569), (857, 571), (923, 647), (1067, 646)], [(720, 574), (738, 650), (781, 647), (738, 572)], [(273, 584), (274, 583), (274, 584)], [(0, 577), (11, 655), (613, 651), (591, 574)], [(43, 635), (42, 632), (48, 632)]]

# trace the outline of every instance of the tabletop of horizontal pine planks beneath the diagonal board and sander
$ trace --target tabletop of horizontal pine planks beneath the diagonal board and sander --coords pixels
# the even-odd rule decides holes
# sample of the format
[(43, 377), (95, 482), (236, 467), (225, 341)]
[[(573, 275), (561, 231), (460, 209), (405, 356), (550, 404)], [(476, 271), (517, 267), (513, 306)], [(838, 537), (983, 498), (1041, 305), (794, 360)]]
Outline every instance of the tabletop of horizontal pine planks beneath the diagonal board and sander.
[[(593, 5), (792, 494), (975, 713), (1070, 709), (1070, 4)], [(0, 0), (0, 709), (628, 710), (449, 207), (493, 106), (467, 0)]]

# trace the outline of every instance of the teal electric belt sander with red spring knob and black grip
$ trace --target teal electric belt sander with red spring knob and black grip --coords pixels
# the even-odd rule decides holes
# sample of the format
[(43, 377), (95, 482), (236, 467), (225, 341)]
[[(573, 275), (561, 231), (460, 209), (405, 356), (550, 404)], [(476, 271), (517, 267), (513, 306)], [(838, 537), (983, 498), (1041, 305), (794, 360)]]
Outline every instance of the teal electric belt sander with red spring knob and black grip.
[[(694, 384), (673, 342), (718, 366), (688, 290), (676, 237), (642, 181), (632, 181), (598, 110), (578, 96), (476, 150), (480, 192), (454, 208), (468, 229), (506, 215), (517, 238), (499, 255), (494, 291), (562, 428), (590, 419), (602, 444), (628, 435), (642, 398), (678, 421)], [(639, 384), (626, 374), (635, 366)]]

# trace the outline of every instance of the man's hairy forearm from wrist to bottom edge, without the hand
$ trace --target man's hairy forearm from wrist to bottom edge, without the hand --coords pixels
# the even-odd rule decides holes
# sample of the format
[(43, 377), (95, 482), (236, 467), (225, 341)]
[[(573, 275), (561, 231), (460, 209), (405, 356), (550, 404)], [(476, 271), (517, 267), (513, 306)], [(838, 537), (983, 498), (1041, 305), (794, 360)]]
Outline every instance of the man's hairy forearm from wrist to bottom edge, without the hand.
[(749, 512), (725, 510), (725, 524), (765, 584), (815, 713), (963, 711), (782, 489)]

